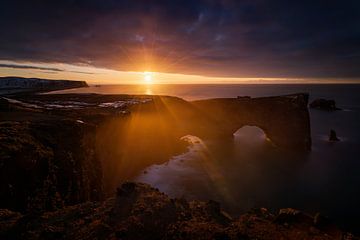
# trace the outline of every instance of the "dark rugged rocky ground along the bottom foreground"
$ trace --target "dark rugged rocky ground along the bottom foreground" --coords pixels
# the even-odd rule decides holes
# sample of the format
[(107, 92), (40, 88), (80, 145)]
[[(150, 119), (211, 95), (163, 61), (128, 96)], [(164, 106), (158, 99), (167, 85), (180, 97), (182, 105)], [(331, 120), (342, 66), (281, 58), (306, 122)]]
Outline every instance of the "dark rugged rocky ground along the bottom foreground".
[(146, 184), (125, 183), (115, 198), (41, 215), (0, 210), (1, 239), (358, 239), (319, 215), (255, 209), (238, 218), (219, 204), (171, 199)]

